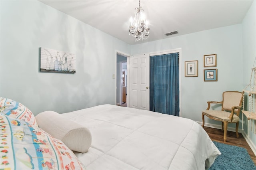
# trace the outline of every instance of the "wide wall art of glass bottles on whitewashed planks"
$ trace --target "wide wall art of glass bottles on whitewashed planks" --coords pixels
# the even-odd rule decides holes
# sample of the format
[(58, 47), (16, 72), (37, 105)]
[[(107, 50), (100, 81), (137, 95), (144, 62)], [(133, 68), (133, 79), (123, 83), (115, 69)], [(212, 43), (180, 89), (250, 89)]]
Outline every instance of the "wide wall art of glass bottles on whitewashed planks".
[(76, 55), (40, 47), (40, 72), (76, 73)]

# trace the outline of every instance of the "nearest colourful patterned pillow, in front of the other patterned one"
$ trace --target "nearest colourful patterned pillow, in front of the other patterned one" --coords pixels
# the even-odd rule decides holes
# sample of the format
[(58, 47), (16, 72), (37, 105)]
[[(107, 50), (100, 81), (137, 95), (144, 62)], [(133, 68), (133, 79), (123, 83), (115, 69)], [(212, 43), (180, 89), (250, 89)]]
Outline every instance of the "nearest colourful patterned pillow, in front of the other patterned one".
[(4, 114), (0, 114), (0, 157), (0, 170), (85, 169), (61, 140)]

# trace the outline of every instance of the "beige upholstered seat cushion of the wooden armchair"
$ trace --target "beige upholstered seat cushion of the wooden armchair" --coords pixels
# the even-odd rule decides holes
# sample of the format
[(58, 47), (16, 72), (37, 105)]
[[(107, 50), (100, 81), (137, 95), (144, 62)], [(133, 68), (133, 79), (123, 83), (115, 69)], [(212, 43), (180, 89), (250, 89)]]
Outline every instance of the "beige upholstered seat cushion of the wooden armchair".
[[(202, 111), (206, 116), (214, 117), (215, 119), (219, 119), (221, 121), (228, 121), (231, 122), (229, 119), (230, 112), (226, 111), (214, 111), (214, 110), (209, 110), (209, 111)], [(239, 117), (234, 114), (232, 122), (238, 122)]]

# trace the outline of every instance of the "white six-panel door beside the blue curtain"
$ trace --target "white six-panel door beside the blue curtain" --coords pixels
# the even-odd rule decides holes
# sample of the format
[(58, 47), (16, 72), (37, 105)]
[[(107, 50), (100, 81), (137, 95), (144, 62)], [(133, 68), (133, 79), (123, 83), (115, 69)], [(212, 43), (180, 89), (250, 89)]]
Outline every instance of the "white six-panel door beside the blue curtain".
[(149, 54), (128, 58), (129, 107), (149, 110)]

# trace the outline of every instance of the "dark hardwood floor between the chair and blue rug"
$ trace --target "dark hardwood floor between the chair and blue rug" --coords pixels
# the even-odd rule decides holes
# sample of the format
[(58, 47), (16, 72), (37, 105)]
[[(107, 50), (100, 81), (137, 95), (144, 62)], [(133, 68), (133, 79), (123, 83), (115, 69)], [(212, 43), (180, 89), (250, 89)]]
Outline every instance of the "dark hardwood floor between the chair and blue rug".
[(256, 156), (252, 152), (252, 149), (244, 139), (244, 136), (239, 133), (239, 138), (236, 138), (236, 132), (227, 132), (227, 141), (224, 142), (223, 140), (223, 131), (221, 129), (216, 128), (210, 128), (210, 127), (204, 127), (204, 130), (208, 133), (210, 138), (212, 140), (215, 140), (217, 142), (221, 142), (224, 144), (231, 144), (235, 146), (240, 146), (247, 149), (248, 154), (251, 156), (252, 160), (254, 161), (254, 164), (256, 164)]

